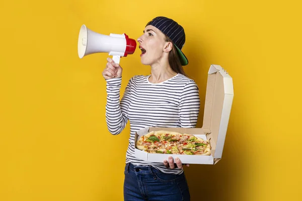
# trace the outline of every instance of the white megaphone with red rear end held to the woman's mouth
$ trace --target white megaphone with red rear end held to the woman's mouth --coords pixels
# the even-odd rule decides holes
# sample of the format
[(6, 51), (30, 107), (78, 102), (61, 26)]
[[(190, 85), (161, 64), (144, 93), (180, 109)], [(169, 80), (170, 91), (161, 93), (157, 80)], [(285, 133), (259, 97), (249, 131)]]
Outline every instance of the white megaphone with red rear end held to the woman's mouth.
[(136, 41), (126, 34), (103, 35), (91, 31), (82, 25), (78, 40), (78, 54), (80, 59), (84, 56), (107, 52), (113, 56), (115, 63), (120, 62), (121, 57), (133, 54), (136, 48)]

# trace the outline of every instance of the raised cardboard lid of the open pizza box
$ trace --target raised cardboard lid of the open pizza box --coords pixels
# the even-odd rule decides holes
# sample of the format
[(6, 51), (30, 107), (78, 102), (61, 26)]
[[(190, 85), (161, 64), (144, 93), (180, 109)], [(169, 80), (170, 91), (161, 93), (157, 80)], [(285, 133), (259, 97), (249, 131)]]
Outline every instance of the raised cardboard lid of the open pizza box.
[(202, 129), (214, 143), (213, 158), (221, 158), (233, 103), (233, 79), (221, 66), (208, 71)]

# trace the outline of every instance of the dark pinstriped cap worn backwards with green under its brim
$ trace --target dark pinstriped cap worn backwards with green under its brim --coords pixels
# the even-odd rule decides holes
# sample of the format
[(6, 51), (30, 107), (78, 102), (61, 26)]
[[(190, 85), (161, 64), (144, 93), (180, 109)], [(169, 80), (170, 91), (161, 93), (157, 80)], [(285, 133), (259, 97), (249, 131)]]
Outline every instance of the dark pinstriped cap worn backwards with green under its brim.
[(173, 41), (174, 46), (176, 47), (181, 65), (188, 65), (189, 61), (184, 55), (184, 53), (181, 51), (182, 47), (186, 42), (184, 28), (177, 24), (177, 22), (175, 22), (174, 20), (166, 17), (156, 17), (152, 21), (148, 22), (146, 26), (148, 25), (152, 25), (158, 28), (159, 30), (161, 30), (161, 32), (168, 36)]

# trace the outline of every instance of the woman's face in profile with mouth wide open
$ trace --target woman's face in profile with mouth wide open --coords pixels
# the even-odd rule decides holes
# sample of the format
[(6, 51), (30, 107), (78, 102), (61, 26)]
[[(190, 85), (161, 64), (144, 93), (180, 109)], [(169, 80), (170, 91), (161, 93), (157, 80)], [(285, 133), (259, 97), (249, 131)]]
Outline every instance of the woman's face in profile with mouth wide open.
[(156, 27), (148, 25), (137, 41), (141, 49), (140, 61), (144, 65), (154, 65), (163, 59), (167, 42), (165, 35)]

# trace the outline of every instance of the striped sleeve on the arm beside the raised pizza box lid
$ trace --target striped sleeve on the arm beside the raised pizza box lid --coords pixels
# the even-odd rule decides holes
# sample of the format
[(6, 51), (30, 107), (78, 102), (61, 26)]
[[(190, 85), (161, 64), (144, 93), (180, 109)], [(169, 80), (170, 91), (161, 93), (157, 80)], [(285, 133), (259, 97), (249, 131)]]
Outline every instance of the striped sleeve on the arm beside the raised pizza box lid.
[(200, 109), (200, 98), (197, 84), (192, 80), (188, 82), (180, 97), (179, 118), (180, 127), (195, 128)]

